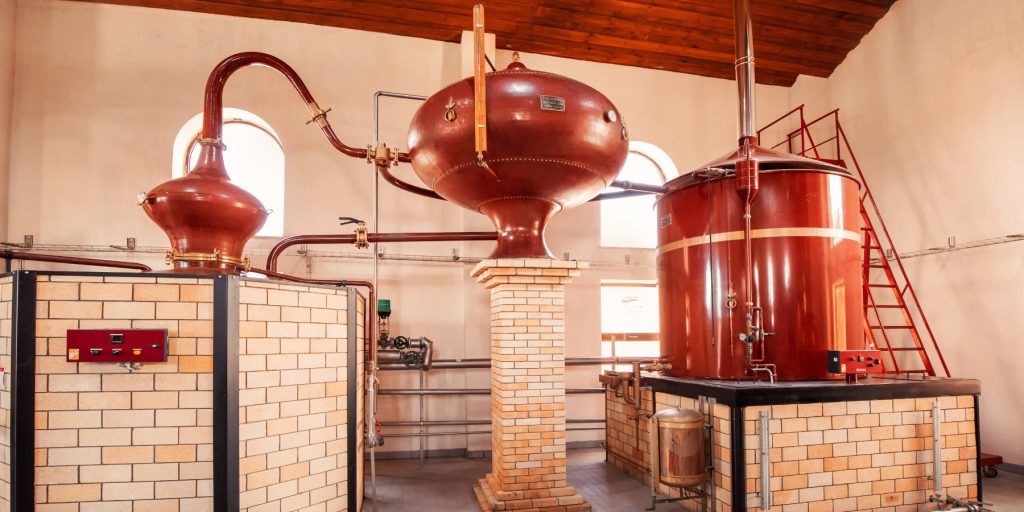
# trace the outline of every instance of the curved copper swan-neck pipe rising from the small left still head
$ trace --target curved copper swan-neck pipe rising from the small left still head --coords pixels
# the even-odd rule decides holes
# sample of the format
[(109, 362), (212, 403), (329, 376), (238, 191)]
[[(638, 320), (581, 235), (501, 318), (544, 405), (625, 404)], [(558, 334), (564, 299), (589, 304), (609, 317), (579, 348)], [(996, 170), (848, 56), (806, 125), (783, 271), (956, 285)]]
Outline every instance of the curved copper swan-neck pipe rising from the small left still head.
[(211, 140), (220, 140), (223, 130), (223, 93), (224, 84), (227, 83), (227, 79), (236, 72), (242, 68), (248, 66), (266, 66), (276, 70), (285, 78), (291, 82), (292, 86), (302, 96), (302, 100), (306, 102), (306, 106), (309, 109), (309, 115), (312, 117), (310, 122), (315, 122), (321, 130), (324, 132), (324, 136), (327, 137), (328, 142), (335, 150), (354, 158), (367, 158), (367, 150), (360, 150), (352, 147), (345, 144), (338, 138), (338, 135), (334, 132), (334, 128), (327, 121), (327, 112), (322, 111), (319, 105), (316, 104), (316, 100), (313, 99), (312, 94), (306, 87), (306, 84), (302, 82), (299, 75), (295, 73), (290, 66), (285, 63), (284, 60), (266, 53), (260, 53), (256, 51), (247, 51), (243, 53), (236, 53), (217, 65), (210, 73), (210, 78), (206, 82), (206, 99), (203, 106), (203, 138)]

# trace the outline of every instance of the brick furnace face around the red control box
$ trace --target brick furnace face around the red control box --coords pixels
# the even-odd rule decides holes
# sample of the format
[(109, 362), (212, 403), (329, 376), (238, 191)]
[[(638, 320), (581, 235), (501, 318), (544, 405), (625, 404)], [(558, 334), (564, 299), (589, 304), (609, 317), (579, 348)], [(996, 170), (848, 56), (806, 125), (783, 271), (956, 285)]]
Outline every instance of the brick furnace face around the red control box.
[[(40, 275), (36, 510), (203, 512), (213, 505), (213, 285)], [(134, 373), (66, 361), (69, 329), (167, 329)]]

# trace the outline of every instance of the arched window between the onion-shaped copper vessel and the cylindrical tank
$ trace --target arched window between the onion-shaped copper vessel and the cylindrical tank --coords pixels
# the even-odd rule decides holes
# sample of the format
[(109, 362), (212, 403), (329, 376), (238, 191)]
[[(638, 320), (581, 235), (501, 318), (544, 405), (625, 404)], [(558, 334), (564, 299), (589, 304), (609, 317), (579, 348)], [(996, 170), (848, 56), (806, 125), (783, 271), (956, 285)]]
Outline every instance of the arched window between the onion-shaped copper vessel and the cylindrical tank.
[[(636, 141), (630, 142), (630, 153), (617, 179), (659, 185), (678, 175), (676, 165), (662, 148)], [(601, 247), (653, 249), (656, 244), (654, 196), (601, 202)]]

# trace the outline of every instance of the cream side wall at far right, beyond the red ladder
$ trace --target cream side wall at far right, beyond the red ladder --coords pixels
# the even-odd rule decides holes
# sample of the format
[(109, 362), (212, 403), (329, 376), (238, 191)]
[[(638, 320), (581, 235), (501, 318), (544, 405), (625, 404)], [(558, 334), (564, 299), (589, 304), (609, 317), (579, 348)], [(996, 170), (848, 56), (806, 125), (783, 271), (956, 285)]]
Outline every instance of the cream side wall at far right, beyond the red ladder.
[[(1024, 230), (1024, 2), (902, 0), (822, 88), (798, 81), (810, 116), (838, 106), (900, 251)], [(827, 106), (826, 106), (827, 105)], [(982, 447), (1024, 464), (1024, 245), (906, 261), (956, 377), (982, 380)]]

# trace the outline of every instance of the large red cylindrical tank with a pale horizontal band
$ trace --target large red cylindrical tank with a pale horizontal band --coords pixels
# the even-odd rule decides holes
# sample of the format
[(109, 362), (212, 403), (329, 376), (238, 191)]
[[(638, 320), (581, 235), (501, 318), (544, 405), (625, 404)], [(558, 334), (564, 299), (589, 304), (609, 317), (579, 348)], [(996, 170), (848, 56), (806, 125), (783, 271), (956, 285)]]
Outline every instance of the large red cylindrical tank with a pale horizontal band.
[[(656, 204), (662, 355), (677, 377), (835, 378), (826, 352), (864, 348), (858, 183), (824, 162), (757, 146), (751, 157), (751, 292), (743, 150), (672, 180)], [(750, 344), (748, 304), (763, 331)]]

